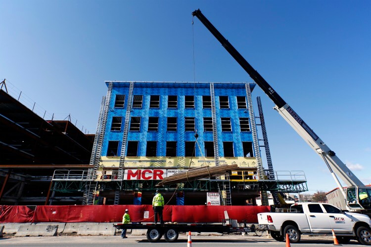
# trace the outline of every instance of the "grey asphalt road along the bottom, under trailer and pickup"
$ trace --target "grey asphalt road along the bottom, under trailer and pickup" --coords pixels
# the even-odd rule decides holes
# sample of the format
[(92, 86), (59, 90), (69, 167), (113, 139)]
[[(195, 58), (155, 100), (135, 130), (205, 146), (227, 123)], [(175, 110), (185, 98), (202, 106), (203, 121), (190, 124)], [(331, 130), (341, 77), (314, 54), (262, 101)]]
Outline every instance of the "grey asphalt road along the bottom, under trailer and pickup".
[[(285, 247), (284, 242), (277, 242), (267, 236), (191, 236), (192, 247)], [(0, 246), (6, 247), (186, 247), (187, 236), (180, 234), (179, 239), (173, 243), (167, 243), (163, 238), (156, 243), (149, 243), (145, 236), (130, 236), (122, 239), (120, 236), (55, 236), (55, 237), (3, 237), (0, 238)], [(298, 244), (292, 247), (330, 247), (333, 246), (332, 236), (302, 236)], [(352, 240), (347, 247), (360, 247), (358, 242)]]

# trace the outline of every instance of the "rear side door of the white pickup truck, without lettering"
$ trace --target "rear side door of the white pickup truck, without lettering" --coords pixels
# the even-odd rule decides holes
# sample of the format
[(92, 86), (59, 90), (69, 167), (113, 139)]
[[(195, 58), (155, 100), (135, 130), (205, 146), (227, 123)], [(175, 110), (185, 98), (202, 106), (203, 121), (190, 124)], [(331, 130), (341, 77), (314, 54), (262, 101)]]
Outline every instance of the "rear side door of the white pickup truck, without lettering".
[(308, 204), (307, 218), (313, 233), (330, 233), (328, 217), (320, 204)]

